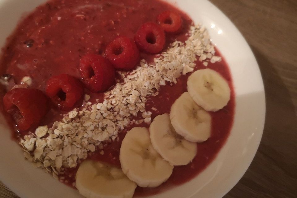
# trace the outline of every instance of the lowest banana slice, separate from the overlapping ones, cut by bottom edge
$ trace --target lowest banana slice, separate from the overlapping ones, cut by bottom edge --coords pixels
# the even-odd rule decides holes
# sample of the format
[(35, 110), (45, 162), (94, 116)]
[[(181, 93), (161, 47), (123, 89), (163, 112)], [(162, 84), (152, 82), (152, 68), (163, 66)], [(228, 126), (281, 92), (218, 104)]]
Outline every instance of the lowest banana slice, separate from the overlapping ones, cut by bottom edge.
[(75, 179), (76, 188), (87, 198), (131, 198), (137, 186), (121, 169), (92, 160), (80, 164)]

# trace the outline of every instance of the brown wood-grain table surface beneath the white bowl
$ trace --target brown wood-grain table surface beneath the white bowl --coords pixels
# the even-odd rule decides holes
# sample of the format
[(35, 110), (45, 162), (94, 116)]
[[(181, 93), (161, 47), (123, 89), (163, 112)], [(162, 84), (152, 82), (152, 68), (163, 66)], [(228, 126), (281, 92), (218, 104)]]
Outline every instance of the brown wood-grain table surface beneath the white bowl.
[[(232, 20), (251, 46), (262, 72), (267, 108), (258, 152), (246, 174), (224, 198), (296, 198), (297, 0), (211, 2)], [(18, 198), (2, 183), (0, 197)]]

